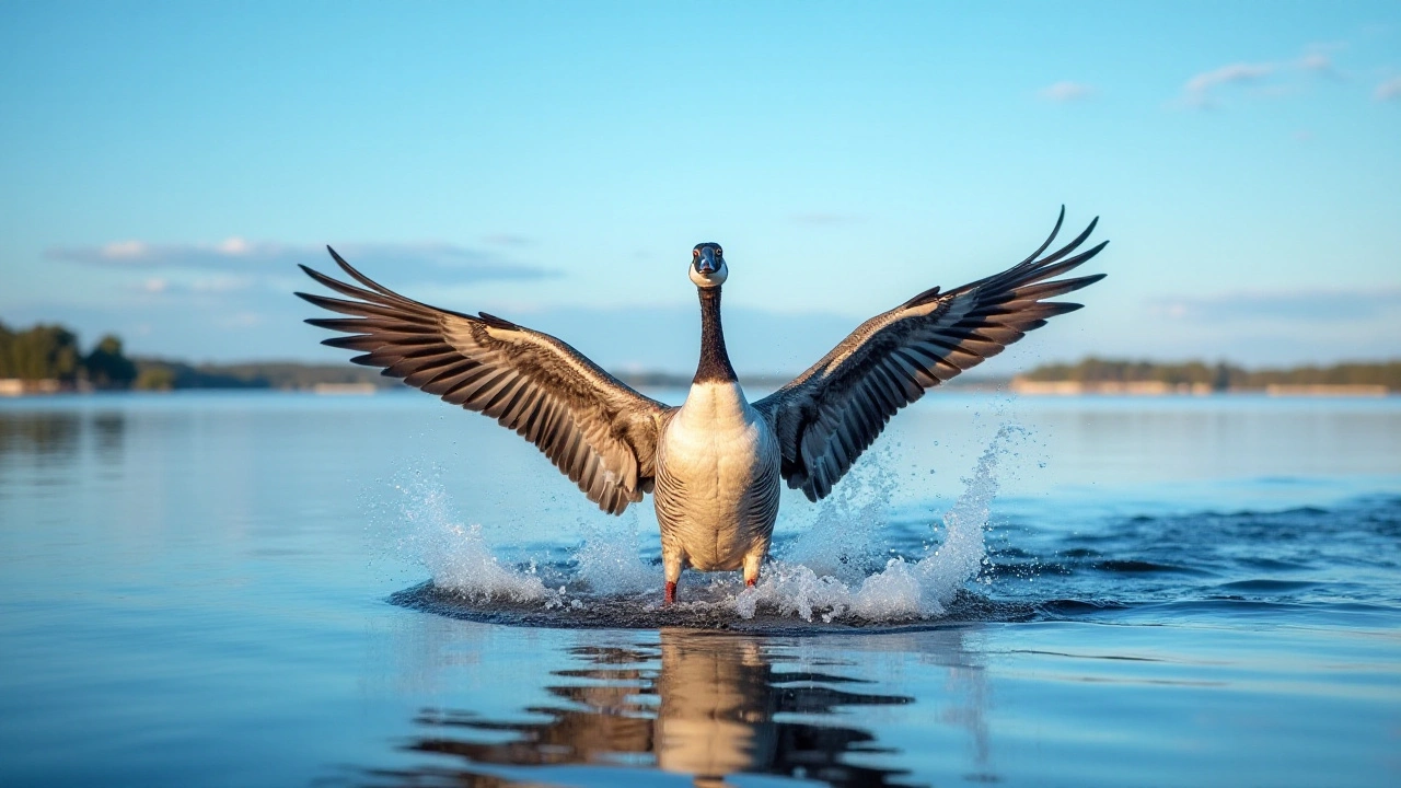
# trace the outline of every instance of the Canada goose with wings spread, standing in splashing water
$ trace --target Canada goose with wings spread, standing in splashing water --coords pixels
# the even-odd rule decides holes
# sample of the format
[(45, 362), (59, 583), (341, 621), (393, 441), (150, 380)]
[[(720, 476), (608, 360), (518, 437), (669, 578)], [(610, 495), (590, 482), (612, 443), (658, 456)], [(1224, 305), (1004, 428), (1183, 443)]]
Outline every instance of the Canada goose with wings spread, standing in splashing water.
[(324, 345), (350, 360), (497, 421), (534, 443), (609, 515), (653, 494), (661, 531), (664, 604), (685, 568), (743, 569), (758, 582), (779, 510), (779, 482), (808, 501), (832, 491), (897, 411), (992, 358), (1047, 320), (1082, 304), (1049, 301), (1098, 282), (1056, 279), (1108, 241), (1079, 251), (1098, 217), (1041, 257), (1065, 222), (1026, 259), (948, 292), (930, 287), (856, 327), (807, 372), (750, 402), (726, 352), (720, 292), (724, 250), (696, 244), (688, 275), (700, 300), (700, 359), (681, 407), (646, 397), (560, 339), (488, 313), (415, 301), (360, 273), (335, 250), (352, 285), (305, 265), (346, 299), (297, 293), (349, 317), (307, 322), (343, 335)]

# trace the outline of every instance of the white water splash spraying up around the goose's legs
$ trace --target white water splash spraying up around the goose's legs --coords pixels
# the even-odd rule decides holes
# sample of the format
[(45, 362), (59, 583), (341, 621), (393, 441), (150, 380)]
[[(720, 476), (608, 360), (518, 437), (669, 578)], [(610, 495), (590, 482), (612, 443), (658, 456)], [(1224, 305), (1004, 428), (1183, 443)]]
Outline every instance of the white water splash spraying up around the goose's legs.
[[(567, 565), (541, 572), (534, 561), (503, 561), (488, 544), (481, 524), (465, 524), (454, 515), (443, 484), (416, 474), (395, 485), (402, 495), (399, 515), (405, 536), (402, 552), (416, 558), (432, 575), (433, 589), (474, 606), (527, 606), (553, 610), (555, 625), (570, 625), (600, 616), (618, 616), (618, 625), (675, 625), (688, 620), (703, 624), (761, 618), (801, 618), (824, 623), (885, 623), (939, 618), (950, 603), (986, 565), (985, 534), (998, 492), (999, 461), (1026, 430), (1005, 423), (978, 458), (964, 491), (943, 516), (941, 540), (922, 554), (881, 562), (881, 533), (888, 524), (895, 474), (884, 463), (866, 466), (846, 480), (804, 534), (765, 565), (759, 583), (747, 589), (736, 573), (699, 575), (684, 582), (682, 602), (660, 607), (661, 568), (643, 555), (654, 547), (651, 529), (643, 533), (633, 512), (618, 520), (581, 523), (584, 543), (570, 552)], [(553, 579), (563, 580), (556, 586)], [(472, 613), (472, 611), (465, 611)], [(481, 614), (499, 610), (482, 607)], [(688, 618), (689, 617), (689, 618)], [(626, 620), (626, 624), (623, 623)], [(607, 624), (607, 621), (604, 621)]]

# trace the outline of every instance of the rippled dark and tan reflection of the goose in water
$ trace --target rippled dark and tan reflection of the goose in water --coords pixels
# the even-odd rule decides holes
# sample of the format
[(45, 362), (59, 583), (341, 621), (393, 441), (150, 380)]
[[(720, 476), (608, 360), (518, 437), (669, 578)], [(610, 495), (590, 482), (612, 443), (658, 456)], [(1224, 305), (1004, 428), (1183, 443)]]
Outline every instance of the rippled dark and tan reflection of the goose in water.
[[(375, 771), (374, 778), (395, 785), (497, 785), (504, 775), (492, 767), (598, 764), (689, 774), (700, 787), (729, 785), (724, 778), (734, 773), (829, 785), (904, 784), (897, 781), (902, 770), (849, 763), (846, 756), (855, 753), (885, 761), (898, 754), (877, 746), (870, 732), (800, 719), (845, 721), (849, 716), (835, 716), (842, 707), (913, 698), (863, 693), (864, 681), (832, 673), (775, 670), (785, 658), (761, 638), (684, 630), (663, 630), (660, 638), (660, 648), (572, 649), (584, 666), (553, 673), (565, 681), (548, 691), (566, 702), (528, 708), (548, 718), (541, 722), (425, 711), (416, 724), (426, 731), (408, 749), (469, 763), (453, 770)], [(528, 780), (549, 782), (541, 774)]]

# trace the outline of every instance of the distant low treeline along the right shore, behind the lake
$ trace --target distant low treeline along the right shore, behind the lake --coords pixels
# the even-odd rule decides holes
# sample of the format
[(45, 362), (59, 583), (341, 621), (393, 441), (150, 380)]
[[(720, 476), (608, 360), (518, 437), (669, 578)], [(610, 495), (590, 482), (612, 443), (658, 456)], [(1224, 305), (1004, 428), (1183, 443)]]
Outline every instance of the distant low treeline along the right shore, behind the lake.
[(1073, 380), (1077, 383), (1206, 384), (1217, 391), (1265, 388), (1267, 386), (1386, 386), (1393, 391), (1401, 391), (1401, 360), (1248, 370), (1224, 362), (1215, 365), (1205, 362), (1156, 363), (1090, 356), (1073, 365), (1038, 366), (1021, 377), (1041, 383)]

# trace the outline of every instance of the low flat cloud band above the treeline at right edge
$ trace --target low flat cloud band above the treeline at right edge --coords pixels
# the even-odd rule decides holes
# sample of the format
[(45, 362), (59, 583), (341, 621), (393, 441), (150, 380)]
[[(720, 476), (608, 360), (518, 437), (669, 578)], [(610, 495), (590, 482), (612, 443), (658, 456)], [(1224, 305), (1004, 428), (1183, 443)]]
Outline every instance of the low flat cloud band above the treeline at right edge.
[(1401, 313), (1401, 287), (1358, 290), (1241, 292), (1159, 299), (1152, 311), (1182, 320), (1234, 322), (1288, 320), (1292, 322), (1366, 321)]

